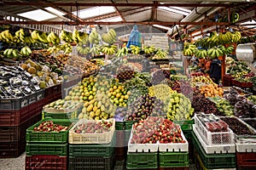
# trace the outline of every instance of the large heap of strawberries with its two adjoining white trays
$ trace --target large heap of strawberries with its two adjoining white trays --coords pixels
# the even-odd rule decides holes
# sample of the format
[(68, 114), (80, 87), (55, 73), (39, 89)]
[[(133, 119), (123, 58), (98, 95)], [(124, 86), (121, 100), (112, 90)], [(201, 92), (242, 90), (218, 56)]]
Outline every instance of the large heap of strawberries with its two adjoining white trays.
[(136, 122), (131, 129), (128, 152), (188, 151), (189, 144), (179, 125), (164, 117)]

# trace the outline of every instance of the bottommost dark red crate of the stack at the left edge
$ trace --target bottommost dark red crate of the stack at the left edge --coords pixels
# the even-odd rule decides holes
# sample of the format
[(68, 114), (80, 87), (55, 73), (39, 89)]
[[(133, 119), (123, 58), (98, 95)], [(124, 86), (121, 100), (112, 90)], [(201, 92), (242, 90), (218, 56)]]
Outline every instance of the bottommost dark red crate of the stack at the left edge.
[(0, 158), (19, 157), (25, 150), (25, 138), (16, 142), (0, 142)]

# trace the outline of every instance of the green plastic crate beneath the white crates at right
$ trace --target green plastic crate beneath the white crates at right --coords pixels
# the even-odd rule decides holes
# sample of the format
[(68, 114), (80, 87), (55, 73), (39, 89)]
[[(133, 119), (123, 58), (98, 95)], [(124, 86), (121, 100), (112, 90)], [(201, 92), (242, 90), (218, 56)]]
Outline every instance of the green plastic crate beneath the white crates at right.
[(236, 154), (207, 154), (202, 148), (199, 140), (196, 138), (195, 133), (192, 132), (192, 143), (195, 151), (201, 158), (204, 166), (207, 169), (219, 168), (235, 168), (236, 167)]

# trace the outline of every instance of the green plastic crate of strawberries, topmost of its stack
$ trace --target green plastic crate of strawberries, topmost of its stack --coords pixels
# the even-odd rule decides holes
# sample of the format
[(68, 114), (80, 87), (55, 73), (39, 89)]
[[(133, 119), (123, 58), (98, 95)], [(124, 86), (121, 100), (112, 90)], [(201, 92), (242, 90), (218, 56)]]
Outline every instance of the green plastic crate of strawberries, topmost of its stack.
[(73, 124), (68, 119), (44, 118), (26, 129), (26, 142), (67, 143), (68, 130)]

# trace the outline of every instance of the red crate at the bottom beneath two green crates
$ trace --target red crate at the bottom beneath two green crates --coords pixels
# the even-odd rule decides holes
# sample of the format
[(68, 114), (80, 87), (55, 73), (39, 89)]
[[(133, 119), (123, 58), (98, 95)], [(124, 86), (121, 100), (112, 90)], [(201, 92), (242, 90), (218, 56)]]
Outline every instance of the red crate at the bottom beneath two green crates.
[(26, 156), (26, 170), (67, 170), (67, 156), (50, 156), (50, 155), (38, 155), (38, 156)]

